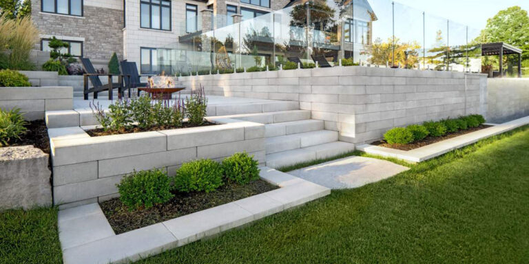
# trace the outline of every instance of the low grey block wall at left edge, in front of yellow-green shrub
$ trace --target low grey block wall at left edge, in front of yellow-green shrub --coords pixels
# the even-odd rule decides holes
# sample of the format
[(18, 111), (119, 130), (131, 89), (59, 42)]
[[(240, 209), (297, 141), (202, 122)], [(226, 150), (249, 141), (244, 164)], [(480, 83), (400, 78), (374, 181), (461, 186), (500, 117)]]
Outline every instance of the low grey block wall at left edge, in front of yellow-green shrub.
[(0, 87), (0, 109), (19, 108), (27, 120), (44, 119), (45, 111), (72, 110), (72, 87)]

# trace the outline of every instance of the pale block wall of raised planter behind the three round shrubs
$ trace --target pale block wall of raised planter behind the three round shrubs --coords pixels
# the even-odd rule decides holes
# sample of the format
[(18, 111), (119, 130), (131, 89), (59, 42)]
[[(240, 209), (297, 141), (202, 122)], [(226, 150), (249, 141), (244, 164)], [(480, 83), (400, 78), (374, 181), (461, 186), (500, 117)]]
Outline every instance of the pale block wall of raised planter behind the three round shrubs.
[(264, 125), (224, 122), (102, 137), (90, 137), (81, 127), (49, 129), (54, 203), (68, 207), (116, 197), (116, 184), (133, 170), (163, 168), (174, 175), (183, 162), (221, 160), (242, 151), (264, 164)]

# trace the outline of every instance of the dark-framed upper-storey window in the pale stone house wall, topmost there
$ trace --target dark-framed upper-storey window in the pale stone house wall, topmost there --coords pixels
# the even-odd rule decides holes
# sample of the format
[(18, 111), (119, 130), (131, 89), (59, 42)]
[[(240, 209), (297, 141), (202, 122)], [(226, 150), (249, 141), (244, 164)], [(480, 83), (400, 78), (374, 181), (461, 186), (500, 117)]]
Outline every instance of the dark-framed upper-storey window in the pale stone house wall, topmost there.
[(141, 28), (171, 31), (171, 1), (141, 0)]

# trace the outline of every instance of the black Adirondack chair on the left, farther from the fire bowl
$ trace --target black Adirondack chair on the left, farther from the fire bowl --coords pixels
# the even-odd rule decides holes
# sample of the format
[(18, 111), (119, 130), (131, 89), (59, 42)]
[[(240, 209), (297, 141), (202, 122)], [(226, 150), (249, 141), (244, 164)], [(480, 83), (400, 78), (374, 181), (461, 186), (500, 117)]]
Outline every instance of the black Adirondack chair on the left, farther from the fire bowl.
[[(100, 91), (108, 91), (108, 99), (112, 100), (114, 89), (118, 89), (118, 94), (121, 96), (123, 94), (123, 75), (121, 74), (98, 74), (96, 72), (96, 69), (94, 69), (94, 65), (92, 65), (92, 62), (90, 61), (90, 58), (81, 58), (81, 63), (83, 64), (83, 68), (85, 69), (86, 74), (83, 74), (84, 77), (84, 98), (85, 100), (88, 100), (88, 94), (94, 93), (94, 99), (97, 99), (97, 94)], [(118, 83), (112, 82), (112, 76), (118, 76)], [(99, 80), (99, 76), (108, 76), (108, 84), (103, 85), (101, 83), (101, 80)], [(88, 80), (90, 80), (90, 83), (92, 83), (92, 88), (88, 88)]]

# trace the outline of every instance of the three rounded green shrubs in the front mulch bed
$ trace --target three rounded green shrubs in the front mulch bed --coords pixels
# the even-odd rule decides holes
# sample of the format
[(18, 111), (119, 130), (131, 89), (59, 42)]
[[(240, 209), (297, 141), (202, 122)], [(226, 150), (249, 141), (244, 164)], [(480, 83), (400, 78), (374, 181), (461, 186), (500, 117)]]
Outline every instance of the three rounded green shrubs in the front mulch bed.
[(212, 192), (224, 184), (249, 184), (259, 179), (258, 162), (253, 155), (235, 153), (218, 163), (198, 159), (184, 163), (175, 177), (164, 170), (141, 170), (126, 175), (117, 184), (121, 202), (129, 210), (165, 203), (177, 192)]

